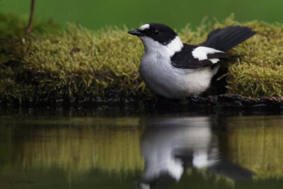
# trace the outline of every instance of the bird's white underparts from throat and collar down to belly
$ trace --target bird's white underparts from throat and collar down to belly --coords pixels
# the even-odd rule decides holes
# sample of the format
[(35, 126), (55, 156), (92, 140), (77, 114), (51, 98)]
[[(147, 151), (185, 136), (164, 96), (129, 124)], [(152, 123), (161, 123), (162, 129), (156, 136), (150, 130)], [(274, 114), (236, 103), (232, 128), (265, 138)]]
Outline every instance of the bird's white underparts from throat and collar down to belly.
[(180, 38), (175, 38), (167, 46), (147, 37), (141, 37), (141, 40), (145, 52), (139, 73), (151, 91), (166, 98), (185, 98), (200, 94), (209, 87), (214, 75), (210, 67), (192, 70), (172, 66), (171, 56), (183, 47)]

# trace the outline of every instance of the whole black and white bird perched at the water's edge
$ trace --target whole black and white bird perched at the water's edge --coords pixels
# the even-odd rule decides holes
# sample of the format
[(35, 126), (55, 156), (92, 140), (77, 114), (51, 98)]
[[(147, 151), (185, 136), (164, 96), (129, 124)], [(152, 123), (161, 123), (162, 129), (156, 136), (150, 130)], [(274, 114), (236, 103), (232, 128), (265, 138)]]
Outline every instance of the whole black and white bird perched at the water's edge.
[(182, 99), (206, 91), (219, 62), (242, 56), (226, 51), (256, 32), (239, 25), (213, 30), (201, 46), (183, 43), (172, 28), (161, 23), (147, 23), (128, 33), (144, 43), (139, 73), (146, 85), (165, 98)]

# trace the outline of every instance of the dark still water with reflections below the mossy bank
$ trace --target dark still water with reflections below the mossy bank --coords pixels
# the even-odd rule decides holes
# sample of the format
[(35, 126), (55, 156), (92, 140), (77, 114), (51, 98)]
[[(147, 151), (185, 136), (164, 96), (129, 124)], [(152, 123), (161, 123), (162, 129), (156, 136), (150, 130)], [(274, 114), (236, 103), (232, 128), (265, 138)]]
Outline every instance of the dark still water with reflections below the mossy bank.
[(282, 115), (0, 114), (0, 188), (283, 188)]

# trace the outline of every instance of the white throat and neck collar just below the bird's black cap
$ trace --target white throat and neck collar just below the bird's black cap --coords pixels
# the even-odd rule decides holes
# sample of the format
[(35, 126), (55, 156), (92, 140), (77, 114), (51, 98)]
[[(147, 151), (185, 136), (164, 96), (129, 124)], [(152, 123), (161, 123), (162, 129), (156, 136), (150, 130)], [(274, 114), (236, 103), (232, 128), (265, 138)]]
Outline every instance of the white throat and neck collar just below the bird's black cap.
[(167, 45), (162, 45), (160, 42), (146, 36), (141, 36), (139, 38), (144, 43), (145, 53), (158, 52), (158, 54), (165, 57), (171, 57), (175, 52), (179, 52), (183, 48), (183, 42), (178, 36), (171, 40), (171, 42), (169, 42)]

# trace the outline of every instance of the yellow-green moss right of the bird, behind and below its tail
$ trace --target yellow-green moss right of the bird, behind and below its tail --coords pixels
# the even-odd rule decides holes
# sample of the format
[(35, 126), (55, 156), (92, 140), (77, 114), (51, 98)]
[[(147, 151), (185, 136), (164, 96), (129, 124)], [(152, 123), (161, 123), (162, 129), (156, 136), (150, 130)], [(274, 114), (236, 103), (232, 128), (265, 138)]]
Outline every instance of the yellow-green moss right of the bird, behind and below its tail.
[[(241, 24), (226, 21), (223, 26)], [(246, 54), (231, 62), (228, 88), (242, 96), (283, 96), (283, 25), (258, 21), (243, 23), (258, 33), (231, 53)]]

